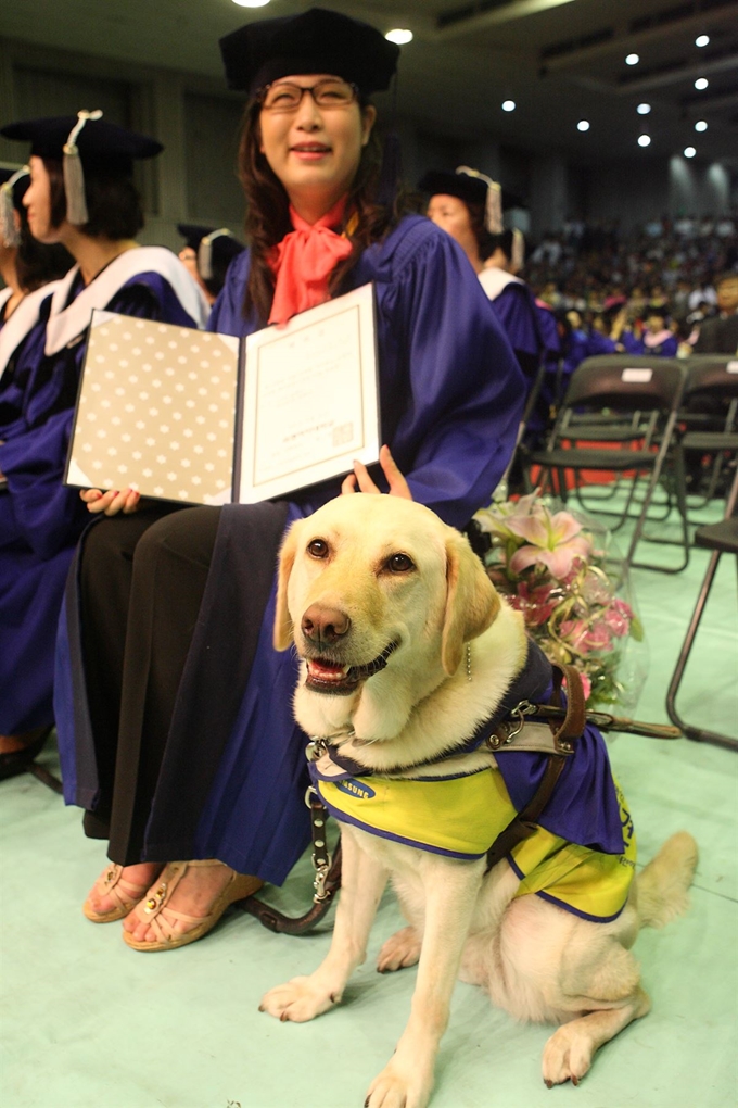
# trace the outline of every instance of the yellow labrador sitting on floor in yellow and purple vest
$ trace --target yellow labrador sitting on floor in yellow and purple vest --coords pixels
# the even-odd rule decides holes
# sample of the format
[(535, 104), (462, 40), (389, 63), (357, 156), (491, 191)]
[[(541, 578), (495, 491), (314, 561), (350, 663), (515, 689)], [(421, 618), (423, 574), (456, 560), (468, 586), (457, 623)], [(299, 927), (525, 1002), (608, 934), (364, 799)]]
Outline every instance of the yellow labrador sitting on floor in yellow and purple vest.
[[(597, 1047), (648, 1010), (630, 947), (642, 925), (687, 906), (692, 837), (674, 835), (635, 879), (630, 817), (607, 771), (592, 819), (610, 804), (619, 847), (565, 842), (552, 801), (548, 830), (549, 808), (521, 852), (486, 872), (495, 809), (505, 823), (514, 790), (502, 772), (510, 756), (469, 739), (524, 685), (532, 647), (466, 540), (419, 504), (346, 495), (295, 523), (274, 642), (303, 659), (295, 714), (318, 737), (313, 780), (342, 820), (344, 858), (328, 957), (267, 993), (262, 1010), (304, 1022), (341, 1001), (392, 876), (409, 926), (385, 943), (378, 968), (419, 965), (409, 1020), (366, 1105), (428, 1104), (457, 976), (516, 1018), (560, 1024), (543, 1079), (576, 1084)], [(602, 738), (588, 743), (557, 788), (571, 790), (578, 760), (590, 759), (576, 786), (586, 793), (591, 767), (606, 765)], [(581, 874), (589, 886), (576, 891)]]

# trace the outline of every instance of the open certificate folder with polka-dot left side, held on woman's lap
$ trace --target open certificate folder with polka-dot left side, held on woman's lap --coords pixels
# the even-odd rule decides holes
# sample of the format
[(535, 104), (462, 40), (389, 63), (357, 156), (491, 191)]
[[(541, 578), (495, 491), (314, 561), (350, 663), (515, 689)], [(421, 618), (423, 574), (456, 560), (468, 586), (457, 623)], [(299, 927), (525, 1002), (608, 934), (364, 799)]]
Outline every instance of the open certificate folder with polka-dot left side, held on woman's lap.
[(364, 285), (247, 339), (94, 311), (65, 483), (256, 503), (380, 452)]

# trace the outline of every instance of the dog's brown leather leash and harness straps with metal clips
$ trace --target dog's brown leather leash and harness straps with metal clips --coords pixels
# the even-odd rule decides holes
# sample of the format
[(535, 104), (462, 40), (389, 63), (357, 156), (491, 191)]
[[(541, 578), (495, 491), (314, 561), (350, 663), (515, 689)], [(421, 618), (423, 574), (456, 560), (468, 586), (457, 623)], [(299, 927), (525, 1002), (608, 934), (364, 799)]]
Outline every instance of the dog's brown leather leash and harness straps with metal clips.
[[(476, 749), (486, 746), (496, 753), (503, 752), (506, 748), (510, 750), (528, 749), (549, 756), (541, 783), (534, 794), (489, 848), (486, 873), (506, 858), (519, 842), (530, 838), (537, 831), (538, 820), (553, 796), (567, 760), (575, 752), (576, 741), (581, 739), (588, 722), (594, 724), (603, 731), (625, 731), (656, 739), (682, 738), (682, 731), (677, 727), (643, 724), (612, 716), (609, 712), (588, 711), (584, 687), (579, 670), (574, 666), (560, 666), (557, 663), (552, 663), (552, 704), (541, 705), (531, 704), (526, 699), (520, 700), (509, 711), (507, 719), (495, 718), (491, 726), (488, 724), (485, 728), (478, 729), (475, 737)], [(564, 679), (567, 681), (565, 708), (562, 706), (561, 697)], [(533, 716), (545, 720), (547, 724), (541, 726), (529, 722), (528, 717)], [(524, 740), (523, 729), (526, 728), (534, 732), (530, 741)], [(325, 739), (313, 739), (308, 747), (308, 757), (313, 760), (328, 747), (329, 743)], [(461, 750), (462, 753), (467, 751), (468, 748)], [(454, 757), (454, 753), (458, 753), (458, 751), (451, 752), (450, 756), (446, 755), (445, 758)], [(360, 773), (362, 767), (352, 766), (351, 769)], [(238, 905), (253, 915), (264, 927), (278, 934), (304, 935), (312, 931), (325, 916), (341, 888), (341, 840), (339, 839), (333, 856), (331, 856), (325, 833), (329, 812), (312, 784), (305, 792), (305, 803), (310, 809), (312, 865), (315, 870), (312, 906), (304, 915), (292, 917), (266, 904), (257, 896), (248, 896)]]

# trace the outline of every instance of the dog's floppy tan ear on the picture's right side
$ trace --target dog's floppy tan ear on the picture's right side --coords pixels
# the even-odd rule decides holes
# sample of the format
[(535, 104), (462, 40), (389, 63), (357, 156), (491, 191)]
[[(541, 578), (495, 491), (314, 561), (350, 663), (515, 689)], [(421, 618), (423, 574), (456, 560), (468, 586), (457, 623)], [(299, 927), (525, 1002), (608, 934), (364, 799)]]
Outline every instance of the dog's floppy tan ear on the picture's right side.
[(500, 598), (485, 567), (460, 534), (446, 541), (446, 613), (440, 660), (447, 674), (461, 663), (464, 644), (491, 625), (500, 611)]

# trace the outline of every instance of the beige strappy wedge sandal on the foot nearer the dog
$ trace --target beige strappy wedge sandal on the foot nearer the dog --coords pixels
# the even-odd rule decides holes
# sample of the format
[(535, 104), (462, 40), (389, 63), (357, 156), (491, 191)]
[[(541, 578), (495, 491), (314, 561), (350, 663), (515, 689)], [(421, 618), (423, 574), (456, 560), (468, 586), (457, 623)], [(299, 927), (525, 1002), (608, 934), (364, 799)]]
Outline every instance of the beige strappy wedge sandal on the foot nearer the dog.
[[(123, 941), (134, 951), (174, 951), (177, 946), (186, 946), (202, 938), (209, 931), (212, 931), (216, 923), (229, 905), (235, 904), (246, 896), (261, 889), (263, 882), (259, 878), (231, 871), (230, 880), (225, 889), (218, 893), (210, 911), (207, 915), (187, 915), (185, 912), (177, 912), (169, 907), (169, 899), (175, 889), (187, 873), (188, 869), (205, 865), (222, 865), (217, 859), (204, 859), (197, 862), (169, 862), (165, 868), (159, 881), (154, 888), (154, 892), (145, 901), (139, 902), (135, 909), (135, 915), (142, 923), (147, 923), (154, 929), (156, 940), (146, 942), (134, 938), (129, 931), (123, 932)], [(176, 932), (173, 924), (177, 921), (191, 923), (189, 931)]]

